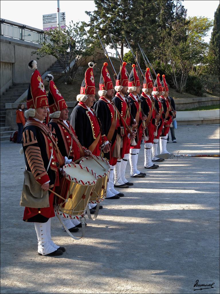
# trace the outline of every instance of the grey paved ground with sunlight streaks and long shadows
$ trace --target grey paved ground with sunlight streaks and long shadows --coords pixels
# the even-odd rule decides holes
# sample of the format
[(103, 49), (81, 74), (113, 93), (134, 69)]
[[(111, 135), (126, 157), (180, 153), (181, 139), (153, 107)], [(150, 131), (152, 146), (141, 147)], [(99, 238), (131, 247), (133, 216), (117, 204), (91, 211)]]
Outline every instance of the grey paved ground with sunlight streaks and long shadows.
[[(176, 137), (169, 151), (219, 153), (217, 125), (180, 126)], [(161, 163), (126, 197), (104, 201), (82, 240), (54, 218), (53, 240), (67, 250), (50, 258), (22, 221), (20, 147), (1, 143), (1, 293), (219, 293), (219, 158)], [(143, 161), (142, 145), (142, 171)], [(194, 292), (196, 280), (214, 288)]]

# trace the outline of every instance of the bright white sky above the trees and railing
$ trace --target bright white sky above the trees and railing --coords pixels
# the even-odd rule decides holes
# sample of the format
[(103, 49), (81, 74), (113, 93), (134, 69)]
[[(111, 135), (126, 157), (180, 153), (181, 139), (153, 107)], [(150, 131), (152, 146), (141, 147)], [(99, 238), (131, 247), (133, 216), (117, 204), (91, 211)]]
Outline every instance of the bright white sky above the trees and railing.
[[(0, 16), (2, 19), (7, 19), (10, 21), (18, 22), (20, 24), (25, 24), (27, 26), (32, 26), (34, 28), (43, 29), (43, 14), (56, 13), (57, 11), (57, 1), (10, 1), (1, 0), (1, 11)], [(214, 13), (219, 5), (219, 0), (185, 0), (183, 5), (187, 9), (187, 16), (204, 16), (209, 19), (214, 19)], [(89, 21), (89, 16), (85, 14), (85, 10), (93, 11), (95, 10), (95, 5), (93, 0), (60, 0), (60, 11), (66, 13), (66, 24), (68, 25), (70, 21)], [(207, 37), (204, 38), (206, 42), (209, 42), (211, 38), (212, 29), (209, 31)], [(109, 48), (107, 47), (108, 51)], [(128, 49), (125, 48), (124, 53)]]

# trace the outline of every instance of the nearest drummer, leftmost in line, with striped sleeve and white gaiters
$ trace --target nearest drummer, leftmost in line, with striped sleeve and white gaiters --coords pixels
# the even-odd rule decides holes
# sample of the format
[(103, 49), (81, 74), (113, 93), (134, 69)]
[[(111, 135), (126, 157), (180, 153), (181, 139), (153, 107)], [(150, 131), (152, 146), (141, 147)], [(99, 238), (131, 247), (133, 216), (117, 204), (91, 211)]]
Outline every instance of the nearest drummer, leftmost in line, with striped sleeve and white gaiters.
[[(29, 177), (30, 181), (32, 179), (33, 182), (31, 183), (36, 184), (37, 187), (40, 184), (43, 191), (48, 191), (48, 189), (54, 190), (55, 186), (59, 185), (58, 169), (64, 163), (69, 163), (71, 160), (68, 161), (65, 158), (64, 161), (51, 132), (43, 124), (43, 120), (47, 115), (48, 98), (42, 78), (37, 70), (37, 62), (32, 60), (28, 64), (28, 67), (35, 71), (31, 76), (31, 84), (28, 89), (28, 110), (25, 111), (25, 116), (28, 118), (28, 121), (23, 128), (23, 151), (27, 168), (26, 176)], [(53, 131), (52, 126), (50, 126), (50, 131)], [(55, 216), (53, 193), (49, 192), (49, 198), (48, 195), (45, 195), (45, 197), (44, 195), (43, 197), (40, 195), (39, 198), (36, 198), (32, 195), (33, 191), (31, 188), (29, 191), (26, 190), (28, 193), (24, 193), (25, 186), (23, 187), (20, 205), (26, 206), (23, 220), (25, 222), (33, 222), (35, 225), (38, 238), (38, 254), (46, 256), (62, 255), (65, 248), (56, 245), (51, 240), (50, 234), (51, 218)], [(41, 202), (39, 203), (39, 201)]]

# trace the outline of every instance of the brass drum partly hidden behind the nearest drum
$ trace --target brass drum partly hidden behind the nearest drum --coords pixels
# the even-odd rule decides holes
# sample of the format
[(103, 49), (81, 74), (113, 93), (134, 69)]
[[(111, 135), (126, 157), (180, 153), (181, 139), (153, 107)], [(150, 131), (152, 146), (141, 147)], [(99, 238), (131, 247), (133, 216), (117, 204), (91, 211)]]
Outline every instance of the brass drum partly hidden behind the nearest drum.
[(97, 161), (93, 158), (83, 158), (80, 161), (82, 166), (86, 166), (87, 168), (94, 171), (97, 175), (97, 183), (94, 190), (91, 193), (91, 197), (89, 203), (99, 203), (103, 201), (106, 197), (107, 184), (109, 181), (109, 173), (110, 173), (110, 165), (109, 162), (100, 157), (93, 156), (104, 168), (102, 168)]

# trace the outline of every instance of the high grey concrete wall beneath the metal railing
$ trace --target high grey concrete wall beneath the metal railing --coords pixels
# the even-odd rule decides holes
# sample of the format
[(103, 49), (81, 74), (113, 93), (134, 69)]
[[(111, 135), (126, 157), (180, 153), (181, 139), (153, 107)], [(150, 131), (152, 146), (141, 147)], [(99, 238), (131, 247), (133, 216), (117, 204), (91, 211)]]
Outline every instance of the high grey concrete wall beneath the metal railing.
[(35, 59), (38, 63), (38, 70), (43, 74), (56, 61), (53, 56), (45, 56), (37, 60), (37, 55), (31, 55), (32, 51), (41, 47), (39, 44), (32, 44), (20, 41), (9, 41), (10, 38), (1, 36), (1, 61), (12, 63), (13, 83), (29, 83), (32, 71), (28, 69), (28, 63)]

